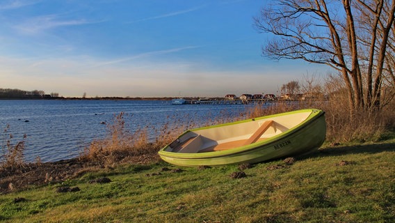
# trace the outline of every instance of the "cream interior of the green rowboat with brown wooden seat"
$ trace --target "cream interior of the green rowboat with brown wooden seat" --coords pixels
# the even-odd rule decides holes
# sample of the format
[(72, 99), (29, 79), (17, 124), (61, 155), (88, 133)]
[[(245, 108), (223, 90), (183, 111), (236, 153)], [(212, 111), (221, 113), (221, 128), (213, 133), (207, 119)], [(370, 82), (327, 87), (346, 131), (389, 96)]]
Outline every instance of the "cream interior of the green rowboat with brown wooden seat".
[(247, 146), (275, 137), (298, 125), (310, 112), (275, 116), (215, 128), (192, 130), (182, 135), (166, 148), (174, 153), (206, 153)]

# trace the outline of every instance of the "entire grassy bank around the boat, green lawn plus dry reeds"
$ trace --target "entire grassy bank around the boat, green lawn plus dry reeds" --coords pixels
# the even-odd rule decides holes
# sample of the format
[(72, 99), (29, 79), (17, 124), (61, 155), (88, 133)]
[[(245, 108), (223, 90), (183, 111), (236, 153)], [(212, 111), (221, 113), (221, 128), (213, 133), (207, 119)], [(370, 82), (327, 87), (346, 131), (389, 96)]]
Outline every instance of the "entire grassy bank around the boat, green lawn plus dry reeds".
[[(350, 121), (329, 105), (314, 102), (328, 125), (321, 150), (248, 169), (178, 169), (159, 161), (157, 151), (195, 123), (169, 123), (148, 141), (147, 130), (128, 131), (121, 113), (107, 137), (92, 141), (77, 159), (56, 163), (24, 163), (24, 139), (10, 135), (2, 147), (0, 221), (391, 222), (393, 109), (377, 116), (361, 112)], [(303, 107), (312, 105), (279, 102), (241, 118)], [(218, 122), (230, 121), (225, 119)]]

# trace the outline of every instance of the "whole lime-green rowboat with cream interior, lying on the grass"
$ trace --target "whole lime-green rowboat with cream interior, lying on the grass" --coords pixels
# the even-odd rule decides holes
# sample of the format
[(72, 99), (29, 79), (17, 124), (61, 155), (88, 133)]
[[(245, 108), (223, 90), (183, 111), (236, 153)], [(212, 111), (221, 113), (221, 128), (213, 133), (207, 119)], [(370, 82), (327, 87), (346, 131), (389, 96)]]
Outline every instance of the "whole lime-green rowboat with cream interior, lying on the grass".
[(252, 164), (317, 149), (325, 134), (324, 112), (302, 109), (188, 130), (159, 155), (187, 167)]

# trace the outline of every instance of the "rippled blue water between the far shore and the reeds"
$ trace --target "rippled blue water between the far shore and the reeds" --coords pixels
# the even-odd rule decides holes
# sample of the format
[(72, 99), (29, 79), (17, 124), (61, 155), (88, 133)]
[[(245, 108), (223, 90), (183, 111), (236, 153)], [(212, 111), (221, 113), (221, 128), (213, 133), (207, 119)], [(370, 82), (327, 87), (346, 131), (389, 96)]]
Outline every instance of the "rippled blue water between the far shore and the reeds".
[[(92, 139), (106, 136), (106, 125), (124, 112), (131, 131), (148, 127), (159, 130), (165, 123), (207, 123), (223, 116), (236, 117), (251, 105), (171, 105), (168, 101), (131, 100), (0, 100), (0, 155), (6, 140), (12, 143), (26, 134), (25, 157), (33, 162), (64, 160), (79, 155)], [(10, 125), (7, 132), (6, 126)], [(150, 132), (150, 139), (159, 134)]]

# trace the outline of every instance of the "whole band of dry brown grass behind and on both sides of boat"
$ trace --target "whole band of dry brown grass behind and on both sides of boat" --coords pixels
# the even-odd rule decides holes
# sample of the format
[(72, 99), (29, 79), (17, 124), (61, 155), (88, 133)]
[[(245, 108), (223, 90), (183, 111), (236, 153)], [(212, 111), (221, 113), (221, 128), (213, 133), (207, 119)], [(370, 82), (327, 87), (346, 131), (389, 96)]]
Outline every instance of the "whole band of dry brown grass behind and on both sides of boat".
[[(254, 118), (282, 112), (289, 112), (296, 109), (316, 108), (325, 111), (327, 122), (328, 144), (347, 143), (350, 141), (379, 141), (385, 137), (386, 132), (394, 129), (394, 115), (391, 111), (394, 107), (383, 110), (380, 113), (360, 112), (357, 117), (350, 119), (348, 106), (345, 98), (337, 95), (336, 98), (313, 98), (299, 101), (278, 101), (271, 105), (257, 105), (241, 114), (240, 118)], [(218, 120), (209, 120), (207, 123), (193, 123), (192, 118), (182, 118), (172, 123), (166, 123), (159, 129), (155, 129), (156, 139), (154, 142), (147, 138), (147, 127), (129, 132), (125, 126), (123, 112), (114, 116), (112, 124), (108, 125), (108, 135), (104, 139), (93, 140), (81, 153), (81, 160), (96, 162), (103, 166), (113, 166), (117, 163), (133, 162), (147, 163), (159, 160), (157, 151), (169, 144), (179, 134), (191, 128), (202, 125), (212, 125), (235, 121), (224, 114)], [(239, 118), (239, 119), (240, 119)], [(172, 118), (169, 118), (172, 120)]]

